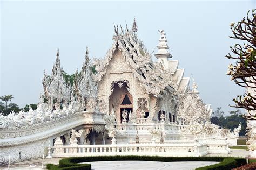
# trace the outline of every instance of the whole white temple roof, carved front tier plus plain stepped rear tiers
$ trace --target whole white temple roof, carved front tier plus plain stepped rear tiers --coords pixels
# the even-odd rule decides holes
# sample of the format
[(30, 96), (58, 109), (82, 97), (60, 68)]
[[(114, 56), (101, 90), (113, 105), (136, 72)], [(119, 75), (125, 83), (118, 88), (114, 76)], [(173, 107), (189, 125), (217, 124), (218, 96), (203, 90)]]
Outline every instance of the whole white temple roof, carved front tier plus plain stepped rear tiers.
[[(174, 89), (176, 89), (184, 90), (179, 91), (179, 93), (184, 94), (189, 83), (189, 78), (183, 79), (184, 69), (177, 69), (178, 60), (168, 61), (167, 68), (161, 67), (159, 63), (152, 61), (151, 54), (145, 49), (143, 42), (133, 30), (129, 31), (126, 27), (124, 32), (121, 27), (122, 32), (119, 32), (118, 27), (114, 27), (115, 33), (112, 47), (107, 51), (104, 60), (97, 61), (98, 67), (96, 70), (98, 72), (98, 81), (105, 75), (106, 68), (114, 52), (118, 49), (126, 62), (129, 63), (134, 76), (142, 83), (147, 93), (158, 97), (159, 94), (165, 94), (160, 93), (161, 91), (169, 90), (174, 93)], [(163, 32), (161, 32), (161, 34), (163, 34)], [(164, 46), (161, 46), (159, 48), (161, 49), (163, 47)], [(176, 91), (176, 94), (179, 93)]]

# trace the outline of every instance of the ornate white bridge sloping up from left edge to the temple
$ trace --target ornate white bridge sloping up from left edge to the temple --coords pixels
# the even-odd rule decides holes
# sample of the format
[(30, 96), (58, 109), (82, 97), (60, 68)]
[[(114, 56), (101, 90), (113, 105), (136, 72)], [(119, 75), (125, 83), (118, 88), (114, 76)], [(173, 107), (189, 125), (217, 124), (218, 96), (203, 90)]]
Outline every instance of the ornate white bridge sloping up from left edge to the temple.
[(71, 129), (93, 130), (97, 126), (97, 129), (104, 130), (105, 127), (104, 114), (90, 111), (56, 115), (48, 121), (35, 121), (31, 125), (25, 120), (22, 125), (17, 125), (12, 119), (1, 123), (8, 124), (5, 129), (0, 129), (1, 164), (8, 162), (9, 155), (11, 162), (40, 158), (46, 153), (49, 141), (52, 145), (53, 139), (70, 134)]

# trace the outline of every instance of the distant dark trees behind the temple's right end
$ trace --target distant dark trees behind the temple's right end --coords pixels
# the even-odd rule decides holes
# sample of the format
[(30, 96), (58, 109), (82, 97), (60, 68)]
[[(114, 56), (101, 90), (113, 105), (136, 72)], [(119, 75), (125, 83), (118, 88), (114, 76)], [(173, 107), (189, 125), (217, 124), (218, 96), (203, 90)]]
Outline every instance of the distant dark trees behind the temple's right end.
[(221, 128), (231, 129), (237, 128), (241, 122), (240, 136), (246, 134), (247, 123), (244, 118), (242, 118), (243, 113), (241, 110), (237, 109), (235, 111), (229, 111), (230, 115), (224, 116), (225, 112), (221, 110), (221, 107), (216, 108), (215, 112), (212, 113), (211, 122), (213, 124), (219, 125)]

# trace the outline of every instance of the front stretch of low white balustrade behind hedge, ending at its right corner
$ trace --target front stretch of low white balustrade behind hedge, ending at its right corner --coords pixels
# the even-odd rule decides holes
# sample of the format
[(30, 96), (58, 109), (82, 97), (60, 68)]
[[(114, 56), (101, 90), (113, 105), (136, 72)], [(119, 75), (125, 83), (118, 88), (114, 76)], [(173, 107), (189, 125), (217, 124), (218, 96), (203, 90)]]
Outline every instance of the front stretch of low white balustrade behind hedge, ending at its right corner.
[[(207, 146), (199, 143), (186, 144), (112, 144), (52, 146), (52, 157), (82, 157), (103, 155), (158, 155), (168, 157), (207, 154)], [(206, 152), (205, 152), (206, 150)]]

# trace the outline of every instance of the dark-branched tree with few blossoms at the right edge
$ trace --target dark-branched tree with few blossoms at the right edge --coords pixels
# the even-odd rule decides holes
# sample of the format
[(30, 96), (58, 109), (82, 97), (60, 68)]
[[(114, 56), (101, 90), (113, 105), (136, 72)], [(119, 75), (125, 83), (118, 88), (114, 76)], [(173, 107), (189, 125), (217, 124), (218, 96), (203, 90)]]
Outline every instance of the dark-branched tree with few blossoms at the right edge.
[(241, 87), (248, 90), (243, 95), (238, 95), (233, 99), (235, 105), (231, 107), (244, 108), (248, 110), (245, 119), (255, 119), (255, 115), (251, 115), (252, 110), (256, 110), (256, 9), (247, 12), (240, 22), (231, 23), (233, 36), (230, 38), (242, 41), (242, 45), (235, 44), (230, 47), (233, 54), (225, 55), (228, 59), (234, 59), (235, 64), (228, 66), (227, 75), (231, 76), (231, 80)]

